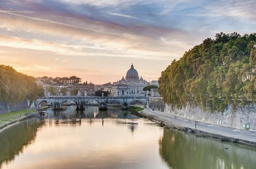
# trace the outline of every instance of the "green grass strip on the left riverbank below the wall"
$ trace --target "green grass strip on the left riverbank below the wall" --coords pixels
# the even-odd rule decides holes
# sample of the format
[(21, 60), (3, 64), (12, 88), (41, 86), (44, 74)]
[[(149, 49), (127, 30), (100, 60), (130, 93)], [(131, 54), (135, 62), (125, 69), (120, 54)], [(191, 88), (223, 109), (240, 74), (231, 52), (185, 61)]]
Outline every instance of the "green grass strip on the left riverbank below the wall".
[[(33, 110), (33, 112), (35, 111)], [(26, 113), (27, 113), (27, 110), (20, 110), (20, 111), (0, 114), (0, 125), (6, 124), (9, 121), (13, 121), (17, 118), (24, 117)]]

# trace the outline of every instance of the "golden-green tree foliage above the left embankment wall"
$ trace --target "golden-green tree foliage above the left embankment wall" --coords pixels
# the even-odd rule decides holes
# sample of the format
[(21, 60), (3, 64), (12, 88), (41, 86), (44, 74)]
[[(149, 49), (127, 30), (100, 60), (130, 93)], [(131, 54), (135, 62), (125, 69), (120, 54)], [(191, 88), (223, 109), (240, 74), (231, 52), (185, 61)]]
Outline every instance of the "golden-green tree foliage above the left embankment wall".
[(10, 66), (0, 65), (0, 101), (17, 103), (27, 98), (30, 102), (44, 96), (44, 89), (38, 87), (35, 78), (17, 72)]

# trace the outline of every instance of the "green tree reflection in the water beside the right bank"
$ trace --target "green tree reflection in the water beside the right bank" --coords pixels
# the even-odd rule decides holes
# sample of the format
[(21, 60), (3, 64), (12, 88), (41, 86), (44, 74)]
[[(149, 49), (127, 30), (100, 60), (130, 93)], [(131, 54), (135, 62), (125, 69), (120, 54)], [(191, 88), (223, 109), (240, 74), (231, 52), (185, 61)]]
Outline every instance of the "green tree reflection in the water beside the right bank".
[(256, 149), (165, 129), (160, 155), (174, 169), (253, 169)]

